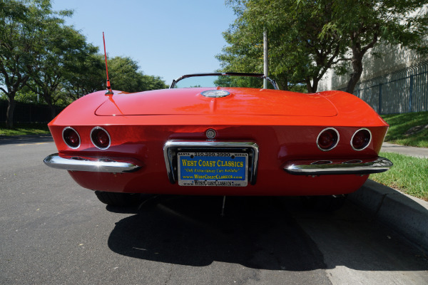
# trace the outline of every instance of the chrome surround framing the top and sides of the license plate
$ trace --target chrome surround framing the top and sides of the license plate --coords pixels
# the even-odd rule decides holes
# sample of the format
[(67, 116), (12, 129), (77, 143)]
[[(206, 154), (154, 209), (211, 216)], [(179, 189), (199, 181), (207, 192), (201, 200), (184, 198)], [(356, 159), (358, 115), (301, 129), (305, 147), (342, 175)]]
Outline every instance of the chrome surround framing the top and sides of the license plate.
[(218, 142), (211, 140), (194, 140), (194, 141), (185, 141), (185, 140), (168, 140), (163, 146), (163, 158), (165, 159), (166, 171), (168, 172), (168, 178), (171, 183), (175, 183), (177, 177), (175, 177), (175, 171), (173, 169), (173, 153), (171, 149), (190, 147), (190, 148), (240, 148), (240, 149), (250, 149), (253, 152), (253, 161), (249, 181), (251, 184), (255, 184), (258, 170), (258, 157), (259, 157), (259, 147), (255, 142)]

